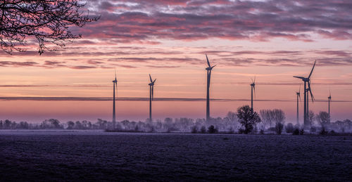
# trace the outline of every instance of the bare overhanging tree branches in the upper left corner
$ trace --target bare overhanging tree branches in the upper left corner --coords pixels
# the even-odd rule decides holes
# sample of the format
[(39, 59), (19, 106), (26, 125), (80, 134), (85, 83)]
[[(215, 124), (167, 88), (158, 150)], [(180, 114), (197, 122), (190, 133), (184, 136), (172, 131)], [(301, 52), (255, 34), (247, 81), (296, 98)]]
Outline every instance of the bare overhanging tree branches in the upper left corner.
[[(80, 0), (5, 0), (0, 1), (0, 46), (6, 53), (25, 51), (28, 41), (37, 39), (38, 53), (53, 51), (51, 46), (65, 47), (67, 41), (79, 39), (70, 27), (83, 27), (89, 18)], [(47, 46), (47, 45), (51, 46)]]

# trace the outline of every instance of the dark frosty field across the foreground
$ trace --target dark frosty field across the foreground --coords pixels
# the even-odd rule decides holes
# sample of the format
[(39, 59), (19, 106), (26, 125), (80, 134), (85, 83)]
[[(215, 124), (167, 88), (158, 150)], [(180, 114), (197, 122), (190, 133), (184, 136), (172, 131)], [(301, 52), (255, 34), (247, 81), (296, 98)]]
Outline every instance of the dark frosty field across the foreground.
[(351, 136), (0, 131), (0, 181), (352, 181)]

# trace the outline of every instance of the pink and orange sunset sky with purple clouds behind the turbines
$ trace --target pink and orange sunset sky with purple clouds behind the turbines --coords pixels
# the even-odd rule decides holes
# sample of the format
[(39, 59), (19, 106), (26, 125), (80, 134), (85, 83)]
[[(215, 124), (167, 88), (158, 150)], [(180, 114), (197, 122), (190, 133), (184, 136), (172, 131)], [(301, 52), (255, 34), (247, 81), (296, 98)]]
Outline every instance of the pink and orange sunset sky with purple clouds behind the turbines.
[(249, 105), (256, 77), (254, 109), (279, 108), (296, 122), (303, 82), (293, 76), (308, 76), (317, 60), (310, 109), (327, 111), (330, 91), (332, 119), (352, 119), (352, 1), (90, 0), (85, 8), (101, 18), (72, 27), (82, 39), (65, 49), (0, 51), (0, 119), (111, 120), (114, 69), (118, 120), (148, 117), (148, 74), (153, 118), (204, 118), (206, 53), (217, 65), (212, 117)]

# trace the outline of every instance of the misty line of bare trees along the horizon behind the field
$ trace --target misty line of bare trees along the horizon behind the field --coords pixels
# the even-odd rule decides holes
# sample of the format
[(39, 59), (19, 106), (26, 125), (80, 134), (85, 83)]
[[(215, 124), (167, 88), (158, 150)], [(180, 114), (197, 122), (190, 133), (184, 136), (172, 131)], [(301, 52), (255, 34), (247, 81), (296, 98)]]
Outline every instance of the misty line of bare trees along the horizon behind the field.
[[(282, 134), (283, 131), (291, 134), (303, 134), (304, 132), (327, 134), (333, 132), (351, 132), (352, 122), (349, 119), (344, 121), (330, 122), (327, 112), (309, 112), (309, 126), (303, 128), (302, 125), (286, 122), (285, 113), (282, 110), (260, 110), (258, 114), (251, 110), (248, 105), (240, 107), (237, 112), (228, 112), (226, 117), (206, 119), (176, 118), (170, 117), (156, 119), (155, 121), (134, 122), (123, 120), (120, 122), (108, 122), (98, 119), (97, 122), (89, 121), (68, 121), (61, 123), (58, 119), (46, 119), (39, 124), (29, 124), (27, 122), (11, 122), (10, 120), (0, 120), (0, 129), (101, 129), (106, 131), (124, 132), (177, 132), (177, 133), (227, 133), (227, 134)], [(316, 122), (315, 122), (316, 121)]]

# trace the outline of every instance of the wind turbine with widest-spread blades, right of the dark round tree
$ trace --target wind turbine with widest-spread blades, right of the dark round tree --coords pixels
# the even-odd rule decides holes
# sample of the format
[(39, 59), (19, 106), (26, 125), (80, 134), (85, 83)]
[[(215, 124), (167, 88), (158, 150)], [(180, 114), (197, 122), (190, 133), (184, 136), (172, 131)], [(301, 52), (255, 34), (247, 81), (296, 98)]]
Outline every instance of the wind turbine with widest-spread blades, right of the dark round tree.
[[(308, 108), (308, 91), (310, 93), (310, 96), (312, 98), (312, 102), (314, 102), (314, 96), (313, 96), (313, 93), (312, 93), (312, 89), (310, 89), (310, 76), (312, 76), (312, 73), (313, 73), (313, 70), (314, 70), (314, 67), (315, 67), (315, 63), (317, 63), (317, 61), (315, 60), (314, 62), (314, 65), (313, 65), (313, 68), (312, 70), (310, 71), (310, 74), (308, 77), (297, 77), (297, 76), (294, 76), (295, 78), (298, 78), (298, 79), (302, 79), (302, 81), (304, 82), (304, 109), (303, 109), (303, 124), (304, 126), (308, 126), (308, 112), (309, 112), (309, 108)], [(308, 86), (308, 88), (307, 88)]]

